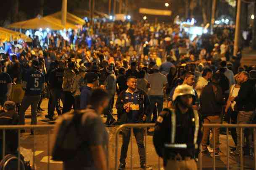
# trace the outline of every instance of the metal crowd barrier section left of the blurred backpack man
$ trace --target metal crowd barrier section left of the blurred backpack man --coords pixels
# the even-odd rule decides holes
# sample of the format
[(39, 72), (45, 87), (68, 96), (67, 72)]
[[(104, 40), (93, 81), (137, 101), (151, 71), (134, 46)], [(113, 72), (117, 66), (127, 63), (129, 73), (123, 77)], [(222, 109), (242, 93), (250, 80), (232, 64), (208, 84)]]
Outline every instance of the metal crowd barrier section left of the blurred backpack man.
[[(5, 157), (5, 132), (6, 130), (17, 130), (18, 129), (18, 170), (21, 170), (21, 165), (20, 165), (20, 160), (21, 160), (21, 153), (20, 153), (20, 137), (21, 137), (21, 130), (23, 129), (46, 129), (48, 131), (48, 140), (47, 140), (47, 154), (48, 154), (48, 162), (47, 162), (47, 170), (50, 170), (50, 130), (54, 128), (54, 125), (13, 125), (13, 126), (0, 126), (0, 131), (3, 131), (3, 162), (5, 162), (4, 157)], [(34, 136), (34, 135), (33, 135)], [(34, 136), (35, 139), (35, 136)], [(35, 166), (35, 140), (33, 142), (33, 165), (32, 167), (34, 168)]]

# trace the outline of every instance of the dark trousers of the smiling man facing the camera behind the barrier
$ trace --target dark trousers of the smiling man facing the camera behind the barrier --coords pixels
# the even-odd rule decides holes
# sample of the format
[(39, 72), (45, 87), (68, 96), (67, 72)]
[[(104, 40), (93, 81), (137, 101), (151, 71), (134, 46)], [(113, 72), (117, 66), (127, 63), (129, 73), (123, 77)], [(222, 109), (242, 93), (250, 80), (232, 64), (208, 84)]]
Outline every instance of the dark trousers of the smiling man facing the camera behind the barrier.
[[(144, 165), (145, 164), (144, 129), (133, 128), (133, 133), (137, 142), (138, 152), (140, 155), (140, 165)], [(122, 137), (123, 137), (123, 144), (121, 147), (120, 162), (125, 164), (125, 159), (127, 157), (128, 146), (131, 138), (131, 128), (124, 128), (122, 130)]]

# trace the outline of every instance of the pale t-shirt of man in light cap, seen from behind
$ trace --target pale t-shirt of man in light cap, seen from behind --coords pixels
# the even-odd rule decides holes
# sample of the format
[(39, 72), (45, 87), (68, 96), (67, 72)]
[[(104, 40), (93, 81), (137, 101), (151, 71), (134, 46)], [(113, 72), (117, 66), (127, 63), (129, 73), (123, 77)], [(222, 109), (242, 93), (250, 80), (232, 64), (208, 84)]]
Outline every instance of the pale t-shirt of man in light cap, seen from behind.
[(150, 96), (163, 96), (164, 95), (164, 85), (167, 83), (167, 78), (162, 73), (153, 73), (148, 76), (148, 83), (150, 84), (150, 89), (148, 90), (148, 95)]

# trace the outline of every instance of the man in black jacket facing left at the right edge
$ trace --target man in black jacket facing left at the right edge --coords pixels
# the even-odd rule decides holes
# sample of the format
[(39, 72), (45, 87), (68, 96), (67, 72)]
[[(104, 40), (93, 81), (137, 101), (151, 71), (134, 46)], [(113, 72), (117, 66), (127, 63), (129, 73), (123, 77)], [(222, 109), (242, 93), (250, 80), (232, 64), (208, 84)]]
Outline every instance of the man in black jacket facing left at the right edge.
[[(238, 110), (238, 124), (248, 124), (251, 123), (253, 117), (255, 115), (255, 100), (256, 100), (256, 92), (255, 92), (255, 83), (253, 80), (249, 79), (249, 74), (245, 71), (241, 72), (239, 77), (239, 81), (241, 82), (241, 87), (238, 92), (237, 97), (230, 97), (230, 101), (235, 101), (235, 109)], [(244, 141), (244, 134), (240, 134), (240, 128), (236, 129), (238, 134), (238, 146), (235, 152), (232, 152), (232, 155), (239, 155), (240, 154), (240, 147), (242, 145), (240, 141), (240, 136), (242, 135), (242, 141)], [(252, 148), (252, 135), (251, 129), (248, 129), (248, 142), (249, 147)]]

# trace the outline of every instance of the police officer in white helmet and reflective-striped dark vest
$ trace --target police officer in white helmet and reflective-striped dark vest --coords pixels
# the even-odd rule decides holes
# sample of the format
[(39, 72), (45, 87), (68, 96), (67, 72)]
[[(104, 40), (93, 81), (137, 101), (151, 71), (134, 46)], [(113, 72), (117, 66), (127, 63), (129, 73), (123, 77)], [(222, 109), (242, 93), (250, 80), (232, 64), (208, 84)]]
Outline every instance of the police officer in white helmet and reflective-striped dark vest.
[(193, 110), (195, 90), (187, 84), (177, 86), (173, 108), (164, 109), (157, 118), (153, 144), (164, 159), (165, 170), (197, 170), (202, 122)]

